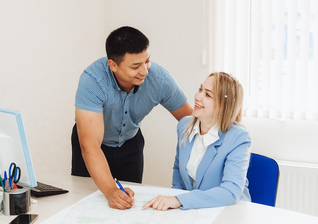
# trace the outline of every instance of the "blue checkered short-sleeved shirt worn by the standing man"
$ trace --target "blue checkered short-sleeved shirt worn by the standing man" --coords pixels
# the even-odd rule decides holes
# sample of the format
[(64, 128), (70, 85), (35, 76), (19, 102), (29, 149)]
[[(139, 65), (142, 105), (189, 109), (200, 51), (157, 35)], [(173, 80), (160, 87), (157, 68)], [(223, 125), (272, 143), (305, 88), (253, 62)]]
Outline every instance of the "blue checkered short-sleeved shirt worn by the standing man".
[(173, 111), (187, 100), (171, 74), (154, 62), (144, 83), (127, 94), (117, 85), (107, 62), (107, 57), (100, 58), (84, 70), (75, 97), (77, 108), (104, 114), (105, 145), (120, 147), (133, 138), (143, 118), (157, 104)]

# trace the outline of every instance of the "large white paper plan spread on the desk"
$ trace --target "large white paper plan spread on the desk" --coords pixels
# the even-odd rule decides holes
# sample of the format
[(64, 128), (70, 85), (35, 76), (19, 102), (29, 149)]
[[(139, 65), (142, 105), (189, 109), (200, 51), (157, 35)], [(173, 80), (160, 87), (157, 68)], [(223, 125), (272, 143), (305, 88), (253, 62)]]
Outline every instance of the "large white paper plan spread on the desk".
[(137, 185), (123, 186), (135, 192), (135, 204), (130, 209), (110, 208), (104, 195), (97, 191), (42, 223), (211, 223), (224, 209), (219, 207), (189, 210), (177, 208), (168, 211), (153, 208), (140, 210), (146, 202), (158, 195), (174, 196), (186, 191)]

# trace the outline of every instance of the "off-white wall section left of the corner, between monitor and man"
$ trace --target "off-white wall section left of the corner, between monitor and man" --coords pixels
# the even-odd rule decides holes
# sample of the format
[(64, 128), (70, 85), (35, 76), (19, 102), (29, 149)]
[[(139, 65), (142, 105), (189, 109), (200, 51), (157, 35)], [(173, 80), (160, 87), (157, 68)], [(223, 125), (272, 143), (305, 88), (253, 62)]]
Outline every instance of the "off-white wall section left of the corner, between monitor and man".
[(21, 110), (36, 170), (70, 173), (74, 95), (104, 56), (104, 1), (0, 1), (0, 107)]

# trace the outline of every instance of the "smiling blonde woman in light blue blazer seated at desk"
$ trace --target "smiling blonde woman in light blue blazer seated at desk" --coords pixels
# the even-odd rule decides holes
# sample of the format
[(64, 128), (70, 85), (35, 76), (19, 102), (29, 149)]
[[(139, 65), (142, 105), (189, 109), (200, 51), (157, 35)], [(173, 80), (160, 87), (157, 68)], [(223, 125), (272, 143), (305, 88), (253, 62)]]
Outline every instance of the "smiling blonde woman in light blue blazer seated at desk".
[(246, 178), (251, 140), (240, 125), (242, 102), (243, 88), (235, 77), (210, 74), (195, 95), (193, 115), (177, 126), (172, 188), (190, 192), (157, 196), (143, 209), (207, 208), (251, 200)]

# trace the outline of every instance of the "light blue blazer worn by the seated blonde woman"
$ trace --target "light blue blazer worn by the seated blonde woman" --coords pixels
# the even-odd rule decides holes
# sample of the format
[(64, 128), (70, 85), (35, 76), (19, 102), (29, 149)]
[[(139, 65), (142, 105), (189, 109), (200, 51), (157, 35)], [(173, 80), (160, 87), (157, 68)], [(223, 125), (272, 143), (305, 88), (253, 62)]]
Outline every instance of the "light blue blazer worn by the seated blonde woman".
[(177, 126), (178, 144), (173, 167), (172, 188), (190, 192), (177, 195), (181, 209), (219, 207), (235, 204), (238, 200), (250, 201), (246, 173), (249, 165), (249, 132), (239, 125), (218, 133), (219, 139), (209, 145), (197, 170), (193, 189), (186, 172), (195, 138), (180, 142), (184, 126), (191, 119), (182, 118)]

